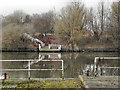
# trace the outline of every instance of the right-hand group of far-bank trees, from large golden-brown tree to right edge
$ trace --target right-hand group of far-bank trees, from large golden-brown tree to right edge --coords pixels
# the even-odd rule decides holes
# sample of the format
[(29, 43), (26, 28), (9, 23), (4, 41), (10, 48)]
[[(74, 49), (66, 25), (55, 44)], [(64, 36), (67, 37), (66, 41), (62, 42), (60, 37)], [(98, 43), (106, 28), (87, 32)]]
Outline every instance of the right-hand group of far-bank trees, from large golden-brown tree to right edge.
[(55, 34), (65, 48), (117, 48), (119, 42), (119, 3), (107, 7), (99, 2), (97, 10), (72, 2), (61, 10), (55, 21)]

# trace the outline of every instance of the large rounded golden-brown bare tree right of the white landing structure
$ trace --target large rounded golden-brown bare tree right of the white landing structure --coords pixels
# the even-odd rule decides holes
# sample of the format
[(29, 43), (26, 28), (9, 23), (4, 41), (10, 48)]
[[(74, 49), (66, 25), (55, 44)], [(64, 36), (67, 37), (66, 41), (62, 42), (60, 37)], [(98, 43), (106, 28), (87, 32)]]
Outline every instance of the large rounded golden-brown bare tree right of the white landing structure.
[[(80, 2), (72, 2), (63, 8), (55, 21), (55, 34), (69, 49), (74, 50), (76, 40), (83, 34), (86, 26), (86, 9)], [(78, 37), (79, 36), (79, 37)]]

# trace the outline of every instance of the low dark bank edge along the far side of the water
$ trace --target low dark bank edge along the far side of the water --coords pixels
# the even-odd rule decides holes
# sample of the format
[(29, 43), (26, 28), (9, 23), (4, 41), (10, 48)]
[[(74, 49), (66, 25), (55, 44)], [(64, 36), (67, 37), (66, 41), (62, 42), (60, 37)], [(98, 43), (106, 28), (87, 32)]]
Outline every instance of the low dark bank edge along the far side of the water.
[(36, 50), (36, 49), (2, 49), (0, 52), (119, 52), (119, 48), (81, 48), (79, 50), (66, 50), (62, 49), (60, 51), (54, 50)]

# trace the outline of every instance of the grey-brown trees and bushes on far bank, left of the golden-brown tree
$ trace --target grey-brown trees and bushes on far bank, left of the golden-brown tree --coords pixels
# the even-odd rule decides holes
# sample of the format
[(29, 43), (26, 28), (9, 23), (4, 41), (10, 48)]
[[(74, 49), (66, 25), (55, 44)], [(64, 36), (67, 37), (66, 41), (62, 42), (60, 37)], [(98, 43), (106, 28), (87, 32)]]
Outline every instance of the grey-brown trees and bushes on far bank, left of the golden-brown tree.
[(54, 15), (53, 11), (28, 15), (17, 10), (13, 14), (5, 16), (2, 29), (3, 49), (36, 49), (32, 42), (24, 38), (24, 33), (28, 33), (33, 37), (36, 34), (53, 33)]

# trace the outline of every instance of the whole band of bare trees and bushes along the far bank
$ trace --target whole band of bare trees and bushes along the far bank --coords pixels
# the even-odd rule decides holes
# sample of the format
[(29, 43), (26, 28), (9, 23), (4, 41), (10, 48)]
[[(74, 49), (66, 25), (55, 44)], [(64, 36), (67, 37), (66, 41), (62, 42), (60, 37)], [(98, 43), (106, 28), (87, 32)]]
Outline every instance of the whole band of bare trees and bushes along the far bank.
[[(15, 11), (3, 19), (2, 48), (5, 50), (33, 49), (35, 44), (23, 37), (29, 33), (39, 39), (52, 35), (63, 49), (118, 48), (118, 4), (106, 7), (100, 2), (98, 9), (86, 8), (81, 2), (71, 2), (60, 13), (48, 11), (28, 15)], [(50, 38), (51, 39), (51, 38)]]

